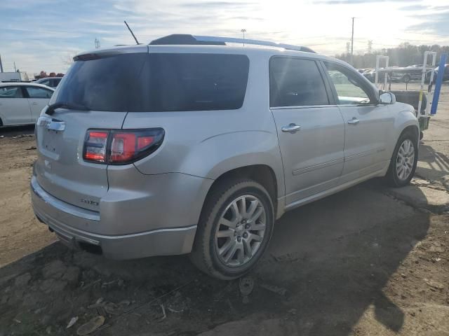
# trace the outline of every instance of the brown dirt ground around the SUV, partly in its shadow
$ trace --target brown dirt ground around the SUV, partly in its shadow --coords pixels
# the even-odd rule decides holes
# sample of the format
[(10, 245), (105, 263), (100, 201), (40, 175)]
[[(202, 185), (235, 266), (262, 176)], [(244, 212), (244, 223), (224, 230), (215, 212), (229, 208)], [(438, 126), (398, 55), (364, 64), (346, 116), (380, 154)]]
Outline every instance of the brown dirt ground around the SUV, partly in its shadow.
[(76, 335), (95, 316), (93, 335), (449, 336), (449, 85), (410, 186), (375, 179), (290, 211), (253, 272), (229, 282), (187, 256), (69, 251), (30, 206), (32, 128), (2, 135), (1, 336)]

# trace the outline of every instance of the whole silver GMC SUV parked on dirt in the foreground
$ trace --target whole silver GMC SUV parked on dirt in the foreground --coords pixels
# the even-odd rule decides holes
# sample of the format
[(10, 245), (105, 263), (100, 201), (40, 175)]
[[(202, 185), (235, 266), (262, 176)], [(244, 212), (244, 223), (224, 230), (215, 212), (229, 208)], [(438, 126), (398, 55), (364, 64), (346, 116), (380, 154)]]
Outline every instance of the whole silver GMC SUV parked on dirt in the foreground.
[(74, 57), (36, 124), (31, 181), (63, 242), (116, 259), (190, 253), (234, 279), (284, 212), (375, 176), (410, 181), (411, 106), (307, 48), (206, 37)]

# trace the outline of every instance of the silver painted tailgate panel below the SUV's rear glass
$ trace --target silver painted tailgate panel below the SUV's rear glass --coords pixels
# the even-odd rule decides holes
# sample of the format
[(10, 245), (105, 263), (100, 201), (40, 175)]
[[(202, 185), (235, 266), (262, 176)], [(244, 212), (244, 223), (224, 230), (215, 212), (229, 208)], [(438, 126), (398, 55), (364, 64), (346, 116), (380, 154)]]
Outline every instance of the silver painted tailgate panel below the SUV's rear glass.
[(53, 116), (43, 116), (60, 127), (51, 130), (48, 123), (36, 125), (35, 172), (39, 185), (59, 200), (99, 211), (98, 202), (108, 189), (107, 165), (83, 160), (86, 131), (119, 129), (126, 112), (58, 109)]

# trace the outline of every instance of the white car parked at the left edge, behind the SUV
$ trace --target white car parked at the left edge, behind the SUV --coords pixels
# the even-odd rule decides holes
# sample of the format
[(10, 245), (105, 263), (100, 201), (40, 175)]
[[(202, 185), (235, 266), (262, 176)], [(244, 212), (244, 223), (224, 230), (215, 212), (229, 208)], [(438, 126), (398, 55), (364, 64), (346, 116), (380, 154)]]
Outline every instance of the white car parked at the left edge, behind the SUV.
[(0, 83), (0, 126), (36, 123), (55, 90), (34, 83)]

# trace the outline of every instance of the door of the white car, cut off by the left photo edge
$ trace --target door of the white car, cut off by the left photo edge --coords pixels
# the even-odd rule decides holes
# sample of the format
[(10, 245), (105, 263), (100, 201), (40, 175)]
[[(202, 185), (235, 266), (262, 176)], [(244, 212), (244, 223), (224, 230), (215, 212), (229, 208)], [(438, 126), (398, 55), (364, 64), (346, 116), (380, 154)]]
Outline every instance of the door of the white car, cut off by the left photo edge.
[(32, 123), (28, 100), (20, 85), (0, 87), (0, 118), (4, 126)]

